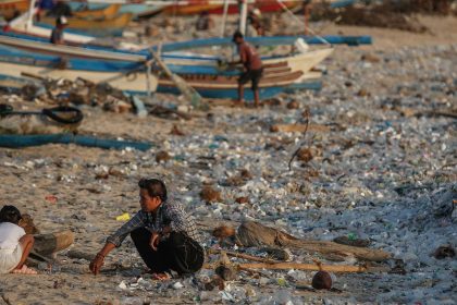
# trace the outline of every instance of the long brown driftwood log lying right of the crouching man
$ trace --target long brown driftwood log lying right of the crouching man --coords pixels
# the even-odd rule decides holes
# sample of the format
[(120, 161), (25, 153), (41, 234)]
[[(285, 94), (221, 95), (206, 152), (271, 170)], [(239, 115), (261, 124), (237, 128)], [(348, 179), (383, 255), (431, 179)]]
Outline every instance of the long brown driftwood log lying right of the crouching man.
[(321, 254), (324, 258), (355, 257), (360, 260), (382, 261), (391, 254), (366, 247), (342, 245), (334, 242), (300, 240), (291, 234), (258, 222), (243, 222), (235, 235), (235, 242), (247, 247), (276, 246), (302, 249), (310, 254)]

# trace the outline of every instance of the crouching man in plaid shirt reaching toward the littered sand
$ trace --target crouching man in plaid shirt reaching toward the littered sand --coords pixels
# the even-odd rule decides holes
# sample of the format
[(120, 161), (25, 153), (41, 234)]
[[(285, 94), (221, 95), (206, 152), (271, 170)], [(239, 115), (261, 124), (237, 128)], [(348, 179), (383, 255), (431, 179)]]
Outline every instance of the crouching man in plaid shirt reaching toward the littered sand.
[(198, 271), (205, 260), (203, 248), (194, 220), (183, 207), (169, 200), (165, 184), (157, 179), (138, 182), (141, 209), (114, 234), (90, 263), (94, 274), (100, 272), (104, 257), (131, 234), (139, 256), (153, 278), (165, 280), (168, 272), (188, 274)]

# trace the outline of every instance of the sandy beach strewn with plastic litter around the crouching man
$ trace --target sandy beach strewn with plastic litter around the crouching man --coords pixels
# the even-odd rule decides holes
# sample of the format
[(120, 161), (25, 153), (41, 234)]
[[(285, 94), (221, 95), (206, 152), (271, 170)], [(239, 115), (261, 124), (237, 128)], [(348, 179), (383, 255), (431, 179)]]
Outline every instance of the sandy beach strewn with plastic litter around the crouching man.
[[(371, 35), (373, 44), (336, 46), (322, 64), (321, 91), (283, 94), (261, 109), (210, 101), (211, 114), (197, 111), (186, 121), (81, 108), (79, 133), (151, 142), (148, 151), (76, 145), (0, 149), (0, 203), (32, 215), (44, 233), (72, 230), (71, 251), (96, 254), (123, 223), (115, 218), (139, 209), (137, 182), (148, 176), (165, 181), (200, 223), (208, 247), (217, 241), (203, 224), (224, 221), (257, 220), (313, 240), (356, 233), (392, 254), (385, 266), (402, 260), (405, 274), (337, 273), (336, 290), (309, 291), (297, 285), (309, 285), (313, 272), (263, 270), (239, 272), (224, 291), (205, 291), (199, 281), (211, 270), (152, 281), (128, 237), (97, 277), (89, 260), (67, 251), (57, 255), (51, 271), (2, 274), (0, 304), (455, 304), (456, 257), (436, 259), (433, 253), (457, 245), (455, 208), (436, 212), (445, 194), (457, 198), (456, 121), (431, 113), (456, 113), (457, 19), (418, 17), (429, 32), (325, 25), (321, 34)], [(174, 96), (156, 98), (180, 103)], [(9, 95), (0, 100), (15, 109), (46, 106)], [(298, 108), (287, 108), (291, 101)], [(302, 123), (306, 109), (311, 124), (324, 127), (306, 134), (312, 159), (296, 160), (288, 170), (302, 134), (273, 133), (270, 126)], [(171, 134), (174, 125), (184, 135)], [(158, 162), (160, 151), (170, 160)], [(227, 183), (242, 169), (251, 178)], [(104, 172), (111, 174), (100, 179)], [(199, 196), (203, 185), (220, 191), (222, 200), (206, 204)], [(239, 196), (249, 204), (235, 203)], [(308, 258), (294, 253), (293, 260)]]

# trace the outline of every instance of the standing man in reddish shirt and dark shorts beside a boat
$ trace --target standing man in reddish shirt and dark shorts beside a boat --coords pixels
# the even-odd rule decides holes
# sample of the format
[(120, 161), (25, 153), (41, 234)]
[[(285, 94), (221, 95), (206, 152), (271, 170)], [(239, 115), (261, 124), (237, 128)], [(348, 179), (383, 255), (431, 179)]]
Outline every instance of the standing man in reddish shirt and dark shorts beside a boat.
[(234, 63), (243, 63), (244, 72), (242, 76), (238, 78), (238, 102), (242, 105), (244, 102), (244, 85), (251, 81), (252, 83), (252, 91), (254, 91), (254, 101), (255, 106), (260, 106), (259, 101), (259, 82), (262, 77), (262, 61), (260, 60), (260, 56), (257, 51), (245, 41), (243, 34), (237, 30), (233, 35), (233, 42), (236, 44), (238, 48), (238, 53), (240, 60)]

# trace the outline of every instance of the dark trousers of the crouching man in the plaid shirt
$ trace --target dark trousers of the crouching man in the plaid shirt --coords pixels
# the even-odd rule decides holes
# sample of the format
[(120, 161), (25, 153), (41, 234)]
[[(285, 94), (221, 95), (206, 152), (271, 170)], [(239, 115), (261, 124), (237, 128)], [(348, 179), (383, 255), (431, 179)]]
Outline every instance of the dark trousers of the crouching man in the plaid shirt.
[(132, 240), (145, 264), (152, 272), (174, 270), (180, 274), (198, 271), (205, 260), (201, 246), (186, 234), (171, 232), (153, 251), (150, 246), (151, 232), (146, 228), (131, 233)]

